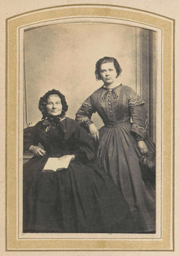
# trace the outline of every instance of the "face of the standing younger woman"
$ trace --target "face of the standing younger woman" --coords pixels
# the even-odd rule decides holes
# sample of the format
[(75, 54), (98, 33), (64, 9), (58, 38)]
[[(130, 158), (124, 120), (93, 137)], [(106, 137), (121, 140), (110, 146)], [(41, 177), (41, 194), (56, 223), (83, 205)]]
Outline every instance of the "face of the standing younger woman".
[(106, 85), (112, 84), (113, 82), (115, 82), (117, 77), (117, 72), (116, 72), (115, 66), (113, 65), (113, 62), (107, 62), (107, 63), (101, 64), (100, 76), (101, 76), (101, 80)]

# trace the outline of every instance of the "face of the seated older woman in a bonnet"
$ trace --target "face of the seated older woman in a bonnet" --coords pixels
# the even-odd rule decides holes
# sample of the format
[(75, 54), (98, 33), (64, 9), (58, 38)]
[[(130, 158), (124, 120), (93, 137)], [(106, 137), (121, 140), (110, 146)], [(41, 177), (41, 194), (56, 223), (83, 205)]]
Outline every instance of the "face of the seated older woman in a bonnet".
[(46, 109), (50, 116), (58, 116), (61, 114), (62, 104), (59, 95), (53, 94), (48, 97)]

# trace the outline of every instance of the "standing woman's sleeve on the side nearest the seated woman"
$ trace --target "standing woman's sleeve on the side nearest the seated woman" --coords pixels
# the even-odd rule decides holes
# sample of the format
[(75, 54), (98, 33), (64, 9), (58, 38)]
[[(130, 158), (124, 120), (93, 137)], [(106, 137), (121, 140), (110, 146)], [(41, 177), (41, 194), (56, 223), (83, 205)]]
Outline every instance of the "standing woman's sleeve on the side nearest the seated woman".
[(95, 113), (96, 110), (93, 106), (91, 96), (88, 97), (82, 104), (82, 106), (78, 109), (76, 113), (76, 121), (82, 125), (82, 127), (88, 129), (90, 124), (93, 123), (91, 120), (92, 114)]

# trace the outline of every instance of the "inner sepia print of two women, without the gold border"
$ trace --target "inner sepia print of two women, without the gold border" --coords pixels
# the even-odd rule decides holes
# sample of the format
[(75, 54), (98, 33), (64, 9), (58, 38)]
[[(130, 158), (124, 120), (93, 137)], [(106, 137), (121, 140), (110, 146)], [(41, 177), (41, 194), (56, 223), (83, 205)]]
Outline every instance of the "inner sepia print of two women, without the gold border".
[(23, 232), (156, 233), (156, 43), (120, 24), (24, 31)]

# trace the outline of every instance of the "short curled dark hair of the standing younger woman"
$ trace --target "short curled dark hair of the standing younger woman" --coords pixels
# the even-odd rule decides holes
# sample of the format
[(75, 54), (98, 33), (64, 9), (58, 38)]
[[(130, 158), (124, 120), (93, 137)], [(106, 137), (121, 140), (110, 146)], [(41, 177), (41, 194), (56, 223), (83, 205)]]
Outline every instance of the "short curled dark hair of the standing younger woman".
[(97, 62), (96, 62), (96, 67), (95, 67), (95, 76), (96, 76), (96, 80), (101, 80), (101, 76), (100, 76), (100, 68), (101, 68), (101, 65), (103, 63), (108, 63), (108, 62), (113, 62), (113, 65), (115, 66), (116, 68), (116, 72), (117, 72), (117, 77), (120, 75), (122, 69), (120, 68), (120, 65), (118, 63), (118, 61), (113, 58), (113, 57), (103, 57), (102, 59), (99, 59)]

